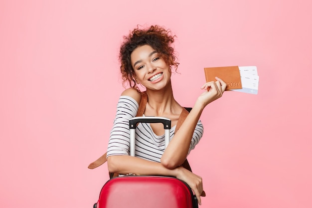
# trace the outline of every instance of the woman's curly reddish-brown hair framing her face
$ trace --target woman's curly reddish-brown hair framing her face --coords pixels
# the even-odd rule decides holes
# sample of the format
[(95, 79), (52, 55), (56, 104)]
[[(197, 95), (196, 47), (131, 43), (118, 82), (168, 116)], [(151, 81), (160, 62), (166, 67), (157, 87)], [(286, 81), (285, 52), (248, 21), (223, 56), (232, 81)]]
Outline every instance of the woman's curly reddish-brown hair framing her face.
[(128, 81), (130, 87), (139, 90), (134, 77), (135, 71), (131, 65), (131, 53), (139, 46), (150, 45), (156, 50), (159, 57), (164, 59), (170, 70), (174, 66), (176, 71), (179, 63), (176, 62), (177, 57), (172, 47), (175, 37), (175, 35), (171, 34), (170, 29), (164, 29), (158, 25), (152, 25), (145, 29), (139, 29), (139, 26), (137, 26), (128, 36), (124, 36), (124, 42), (119, 53), (123, 85), (125, 86), (125, 82)]

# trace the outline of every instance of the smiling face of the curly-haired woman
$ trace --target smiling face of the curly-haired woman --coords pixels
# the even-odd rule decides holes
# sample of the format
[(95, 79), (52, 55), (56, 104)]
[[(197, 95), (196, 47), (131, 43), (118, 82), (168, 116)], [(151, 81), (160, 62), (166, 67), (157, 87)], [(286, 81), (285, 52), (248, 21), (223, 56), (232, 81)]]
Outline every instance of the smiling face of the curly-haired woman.
[(169, 66), (150, 45), (139, 46), (131, 53), (131, 65), (137, 82), (148, 89), (162, 89), (170, 81)]

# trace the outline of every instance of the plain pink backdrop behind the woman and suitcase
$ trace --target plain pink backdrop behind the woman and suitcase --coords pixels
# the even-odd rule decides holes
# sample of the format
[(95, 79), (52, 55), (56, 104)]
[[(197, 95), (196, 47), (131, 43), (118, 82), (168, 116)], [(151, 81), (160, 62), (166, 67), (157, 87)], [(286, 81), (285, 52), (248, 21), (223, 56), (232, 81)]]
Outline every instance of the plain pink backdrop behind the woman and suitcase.
[(226, 92), (190, 154), (202, 208), (312, 207), (310, 0), (1, 0), (0, 207), (91, 208), (123, 90), (122, 36), (177, 35), (175, 98), (192, 106), (204, 67), (256, 65), (259, 94)]

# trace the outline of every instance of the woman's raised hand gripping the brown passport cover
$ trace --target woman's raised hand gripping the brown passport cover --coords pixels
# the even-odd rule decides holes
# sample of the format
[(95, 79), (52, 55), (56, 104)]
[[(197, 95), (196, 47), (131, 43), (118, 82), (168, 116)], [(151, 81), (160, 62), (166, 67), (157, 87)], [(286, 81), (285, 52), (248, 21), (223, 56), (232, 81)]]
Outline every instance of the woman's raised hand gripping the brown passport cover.
[(200, 101), (204, 107), (220, 98), (226, 89), (227, 85), (222, 79), (216, 77), (216, 80), (207, 82), (201, 87), (205, 91), (198, 97), (197, 101)]

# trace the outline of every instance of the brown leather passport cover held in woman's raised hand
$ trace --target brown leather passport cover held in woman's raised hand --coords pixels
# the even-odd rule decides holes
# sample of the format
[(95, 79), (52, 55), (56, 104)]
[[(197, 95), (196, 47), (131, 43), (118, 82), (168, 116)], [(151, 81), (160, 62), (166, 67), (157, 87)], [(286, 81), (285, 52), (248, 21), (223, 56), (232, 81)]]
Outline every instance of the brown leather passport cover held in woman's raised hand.
[(226, 82), (225, 90), (242, 89), (241, 75), (238, 66), (207, 67), (204, 68), (206, 81), (216, 81), (219, 77)]

